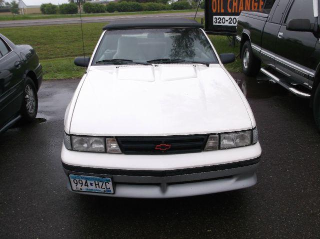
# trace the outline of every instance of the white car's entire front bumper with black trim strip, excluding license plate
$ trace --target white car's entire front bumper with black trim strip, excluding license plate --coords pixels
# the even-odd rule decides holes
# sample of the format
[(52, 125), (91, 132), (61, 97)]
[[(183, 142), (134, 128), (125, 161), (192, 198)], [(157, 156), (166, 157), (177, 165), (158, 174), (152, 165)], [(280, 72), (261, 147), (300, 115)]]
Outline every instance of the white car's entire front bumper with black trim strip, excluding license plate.
[[(200, 153), (124, 155), (84, 153), (62, 146), (66, 175), (110, 177), (113, 197), (169, 198), (202, 195), (252, 186), (261, 148), (254, 145)], [(69, 182), (68, 188), (71, 190)]]

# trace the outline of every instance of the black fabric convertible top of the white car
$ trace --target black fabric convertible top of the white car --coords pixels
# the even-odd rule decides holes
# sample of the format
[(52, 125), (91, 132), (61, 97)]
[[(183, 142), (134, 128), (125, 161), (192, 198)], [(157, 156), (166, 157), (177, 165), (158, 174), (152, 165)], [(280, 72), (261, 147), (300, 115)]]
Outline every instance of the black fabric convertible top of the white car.
[(132, 29), (132, 28), (203, 28), (201, 24), (190, 19), (139, 19), (117, 20), (110, 22), (103, 30)]

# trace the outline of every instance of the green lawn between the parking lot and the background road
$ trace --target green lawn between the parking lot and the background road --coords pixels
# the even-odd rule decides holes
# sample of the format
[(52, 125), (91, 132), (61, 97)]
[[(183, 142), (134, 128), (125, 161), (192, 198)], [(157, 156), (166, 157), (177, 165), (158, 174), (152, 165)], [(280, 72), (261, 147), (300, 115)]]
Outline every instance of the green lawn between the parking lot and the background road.
[[(90, 56), (106, 23), (83, 24), (84, 52)], [(15, 44), (31, 45), (39, 56), (43, 66), (43, 79), (80, 78), (84, 72), (81, 67), (73, 65), (76, 56), (83, 55), (81, 27), (74, 25), (52, 25), (37, 27), (3, 28), (1, 34)], [(239, 47), (232, 48), (226, 37), (210, 36), (218, 53), (237, 54)], [(240, 63), (226, 65), (230, 72), (239, 72)]]

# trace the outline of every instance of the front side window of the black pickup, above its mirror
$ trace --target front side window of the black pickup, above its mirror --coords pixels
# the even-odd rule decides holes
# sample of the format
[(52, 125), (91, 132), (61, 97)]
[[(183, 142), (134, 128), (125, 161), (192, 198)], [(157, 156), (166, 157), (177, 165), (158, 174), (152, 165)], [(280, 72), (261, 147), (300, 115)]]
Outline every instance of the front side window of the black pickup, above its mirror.
[(286, 17), (285, 24), (291, 19), (309, 19), (310, 23), (314, 23), (312, 1), (295, 0)]

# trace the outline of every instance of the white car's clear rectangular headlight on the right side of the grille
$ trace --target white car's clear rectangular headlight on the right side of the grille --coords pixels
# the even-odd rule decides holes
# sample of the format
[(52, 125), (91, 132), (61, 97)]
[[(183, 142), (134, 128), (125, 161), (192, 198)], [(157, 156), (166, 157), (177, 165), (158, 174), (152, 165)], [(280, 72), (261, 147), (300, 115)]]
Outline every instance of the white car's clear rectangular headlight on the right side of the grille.
[(220, 134), (220, 149), (241, 147), (251, 144), (252, 131)]

